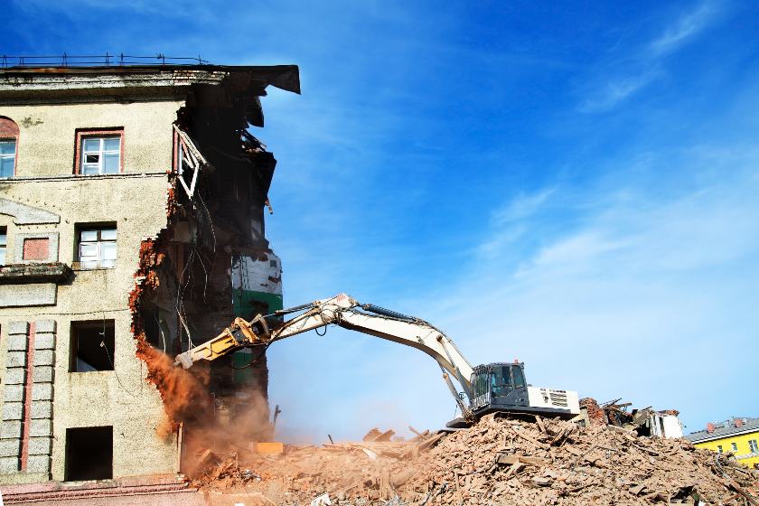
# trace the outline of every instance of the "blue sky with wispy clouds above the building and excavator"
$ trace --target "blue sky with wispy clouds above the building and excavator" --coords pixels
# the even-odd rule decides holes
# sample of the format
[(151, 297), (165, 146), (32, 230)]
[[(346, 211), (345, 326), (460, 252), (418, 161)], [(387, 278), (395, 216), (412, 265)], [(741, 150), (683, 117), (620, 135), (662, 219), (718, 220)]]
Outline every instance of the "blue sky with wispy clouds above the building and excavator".
[[(7, 54), (295, 63), (255, 132), (286, 305), (416, 314), (475, 363), (759, 416), (759, 5), (19, 0)], [(269, 350), (282, 436), (442, 425), (418, 351), (331, 329)]]

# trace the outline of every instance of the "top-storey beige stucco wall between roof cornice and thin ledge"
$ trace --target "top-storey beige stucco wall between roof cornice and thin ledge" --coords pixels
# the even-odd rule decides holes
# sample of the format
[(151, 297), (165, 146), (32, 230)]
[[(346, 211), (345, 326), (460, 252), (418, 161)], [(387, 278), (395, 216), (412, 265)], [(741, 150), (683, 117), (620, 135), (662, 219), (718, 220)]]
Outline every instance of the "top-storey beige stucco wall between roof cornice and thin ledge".
[(15, 175), (73, 173), (77, 128), (124, 128), (123, 171), (172, 166), (171, 123), (176, 101), (0, 106), (0, 116), (19, 126)]

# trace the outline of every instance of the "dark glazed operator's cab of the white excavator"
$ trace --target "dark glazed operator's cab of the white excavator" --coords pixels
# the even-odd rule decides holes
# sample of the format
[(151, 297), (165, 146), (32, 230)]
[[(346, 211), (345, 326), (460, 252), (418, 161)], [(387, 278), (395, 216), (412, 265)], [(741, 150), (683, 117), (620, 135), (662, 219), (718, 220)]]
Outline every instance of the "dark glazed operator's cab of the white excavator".
[(472, 389), (471, 409), (477, 417), (493, 411), (529, 407), (522, 362), (498, 362), (475, 367)]

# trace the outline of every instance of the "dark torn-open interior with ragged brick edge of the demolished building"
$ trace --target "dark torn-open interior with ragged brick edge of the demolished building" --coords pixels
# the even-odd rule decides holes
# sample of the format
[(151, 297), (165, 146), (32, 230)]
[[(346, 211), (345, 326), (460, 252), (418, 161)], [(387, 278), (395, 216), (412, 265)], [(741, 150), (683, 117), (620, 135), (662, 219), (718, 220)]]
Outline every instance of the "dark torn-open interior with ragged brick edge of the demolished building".
[[(210, 102), (196, 99), (178, 111), (166, 225), (143, 240), (129, 297), (136, 356), (164, 401), (159, 430), (182, 426), (188, 447), (199, 446), (192, 437), (229, 434), (214, 428), (220, 425), (244, 427), (235, 433), (248, 438), (270, 436), (267, 362), (259, 351), (237, 352), (182, 370), (173, 356), (216, 336), (236, 316), (282, 307), (281, 266), (268, 247), (263, 213), (276, 161), (245, 133), (239, 104)], [(183, 164), (184, 150), (198, 150), (202, 166)], [(276, 262), (276, 274), (269, 276), (274, 289), (239, 305), (231, 269), (244, 256)]]

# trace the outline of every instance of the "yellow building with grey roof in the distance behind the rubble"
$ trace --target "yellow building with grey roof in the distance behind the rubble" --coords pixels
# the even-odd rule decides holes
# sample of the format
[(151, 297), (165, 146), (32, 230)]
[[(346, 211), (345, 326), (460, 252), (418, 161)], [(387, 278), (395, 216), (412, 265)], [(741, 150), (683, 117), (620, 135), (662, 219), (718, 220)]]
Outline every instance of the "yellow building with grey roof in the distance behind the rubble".
[(739, 463), (759, 469), (759, 418), (731, 418), (710, 423), (706, 429), (685, 438), (697, 448), (735, 454)]

